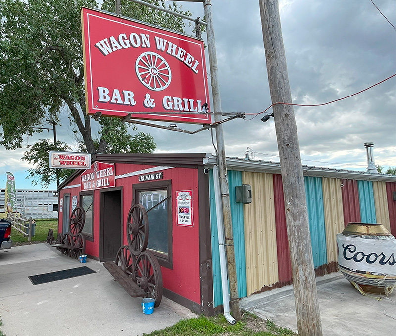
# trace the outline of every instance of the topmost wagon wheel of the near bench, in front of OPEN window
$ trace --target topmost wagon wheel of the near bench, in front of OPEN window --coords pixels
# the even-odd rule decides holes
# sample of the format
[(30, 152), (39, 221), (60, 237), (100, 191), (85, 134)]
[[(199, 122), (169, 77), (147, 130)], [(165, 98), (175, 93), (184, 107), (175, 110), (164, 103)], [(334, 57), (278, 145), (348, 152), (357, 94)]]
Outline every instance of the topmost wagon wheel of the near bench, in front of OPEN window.
[(145, 208), (140, 204), (132, 205), (127, 219), (127, 240), (133, 255), (146, 250), (148, 243), (148, 217)]

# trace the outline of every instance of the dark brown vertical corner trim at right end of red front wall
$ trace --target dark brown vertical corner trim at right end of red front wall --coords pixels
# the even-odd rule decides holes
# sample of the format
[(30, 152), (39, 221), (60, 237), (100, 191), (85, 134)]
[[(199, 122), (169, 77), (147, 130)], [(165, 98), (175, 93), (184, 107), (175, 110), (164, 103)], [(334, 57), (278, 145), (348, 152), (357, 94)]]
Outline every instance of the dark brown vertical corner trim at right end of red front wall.
[(212, 245), (210, 233), (209, 174), (198, 167), (199, 202), (199, 275), (201, 291), (201, 314), (212, 316), (213, 310), (213, 272)]

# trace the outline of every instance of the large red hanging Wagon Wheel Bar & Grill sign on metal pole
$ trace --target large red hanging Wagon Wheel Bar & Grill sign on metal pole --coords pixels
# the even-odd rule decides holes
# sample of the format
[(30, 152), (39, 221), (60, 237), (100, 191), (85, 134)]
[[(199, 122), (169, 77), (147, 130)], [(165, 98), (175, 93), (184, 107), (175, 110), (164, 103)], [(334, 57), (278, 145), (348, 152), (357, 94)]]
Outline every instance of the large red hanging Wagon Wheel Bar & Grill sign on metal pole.
[(87, 8), (81, 22), (88, 114), (211, 122), (202, 41)]

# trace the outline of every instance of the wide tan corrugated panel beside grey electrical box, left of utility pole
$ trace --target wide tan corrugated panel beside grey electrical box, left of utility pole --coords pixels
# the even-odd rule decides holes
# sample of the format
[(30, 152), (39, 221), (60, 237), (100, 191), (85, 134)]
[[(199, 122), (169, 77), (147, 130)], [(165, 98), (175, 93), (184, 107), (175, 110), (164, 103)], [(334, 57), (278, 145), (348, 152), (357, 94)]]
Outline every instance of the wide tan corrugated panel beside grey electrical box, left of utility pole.
[(278, 259), (271, 174), (242, 173), (252, 189), (252, 202), (245, 205), (245, 249), (247, 295), (278, 282)]

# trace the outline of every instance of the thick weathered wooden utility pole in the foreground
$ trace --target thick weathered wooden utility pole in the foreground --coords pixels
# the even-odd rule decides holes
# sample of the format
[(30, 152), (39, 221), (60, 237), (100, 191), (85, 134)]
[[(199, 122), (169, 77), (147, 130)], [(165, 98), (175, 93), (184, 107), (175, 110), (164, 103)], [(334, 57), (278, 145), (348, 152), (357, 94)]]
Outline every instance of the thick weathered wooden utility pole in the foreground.
[[(292, 103), (278, 0), (259, 0), (272, 103)], [(301, 336), (322, 336), (300, 147), (293, 106), (273, 106), (281, 163), (286, 225), (292, 260), (297, 328)]]

